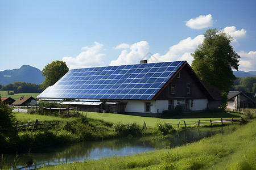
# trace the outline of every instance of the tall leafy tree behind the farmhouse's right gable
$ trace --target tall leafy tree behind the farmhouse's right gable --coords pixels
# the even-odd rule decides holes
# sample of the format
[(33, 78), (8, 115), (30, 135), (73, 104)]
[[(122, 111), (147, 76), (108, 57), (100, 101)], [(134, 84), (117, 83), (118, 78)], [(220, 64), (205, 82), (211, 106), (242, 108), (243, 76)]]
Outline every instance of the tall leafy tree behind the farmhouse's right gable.
[(204, 41), (192, 54), (192, 68), (205, 82), (208, 82), (228, 92), (236, 76), (233, 70), (238, 70), (240, 56), (234, 52), (230, 42), (233, 38), (223, 30), (208, 29), (204, 33)]

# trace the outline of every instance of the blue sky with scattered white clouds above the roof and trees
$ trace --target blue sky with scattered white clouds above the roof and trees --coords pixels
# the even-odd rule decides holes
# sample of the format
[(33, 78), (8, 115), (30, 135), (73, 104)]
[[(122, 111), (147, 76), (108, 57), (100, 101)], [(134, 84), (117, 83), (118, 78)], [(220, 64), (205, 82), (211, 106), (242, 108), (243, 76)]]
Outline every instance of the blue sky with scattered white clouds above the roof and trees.
[(208, 28), (224, 29), (242, 71), (256, 70), (256, 1), (0, 0), (1, 70), (192, 62)]

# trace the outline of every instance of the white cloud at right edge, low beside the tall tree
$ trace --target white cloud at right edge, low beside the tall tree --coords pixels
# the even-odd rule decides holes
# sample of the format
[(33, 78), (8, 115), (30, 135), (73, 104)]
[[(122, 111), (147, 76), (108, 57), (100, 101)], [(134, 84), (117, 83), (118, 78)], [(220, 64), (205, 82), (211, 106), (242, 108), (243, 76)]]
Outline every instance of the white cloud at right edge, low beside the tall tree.
[(250, 51), (246, 53), (241, 51), (238, 53), (240, 55), (240, 66), (238, 67), (239, 70), (242, 71), (256, 71), (256, 51)]

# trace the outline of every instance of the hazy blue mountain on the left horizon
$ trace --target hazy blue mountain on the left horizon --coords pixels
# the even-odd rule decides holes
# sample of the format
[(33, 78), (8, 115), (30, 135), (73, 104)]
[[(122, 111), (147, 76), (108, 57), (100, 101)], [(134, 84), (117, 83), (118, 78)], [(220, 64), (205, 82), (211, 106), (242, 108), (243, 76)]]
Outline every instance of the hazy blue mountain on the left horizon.
[(19, 69), (0, 71), (0, 84), (2, 85), (14, 82), (40, 84), (44, 79), (39, 69), (29, 65), (23, 65)]

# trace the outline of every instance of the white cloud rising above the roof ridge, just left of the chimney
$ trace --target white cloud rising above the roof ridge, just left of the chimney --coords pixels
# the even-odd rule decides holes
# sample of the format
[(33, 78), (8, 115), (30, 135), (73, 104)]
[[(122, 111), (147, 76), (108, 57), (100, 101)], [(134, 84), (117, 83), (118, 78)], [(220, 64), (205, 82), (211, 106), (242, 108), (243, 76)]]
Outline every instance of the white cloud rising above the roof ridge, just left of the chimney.
[(129, 46), (130, 46), (129, 49), (122, 50), (119, 57), (110, 62), (110, 66), (139, 63), (139, 61), (143, 59), (148, 52), (150, 52), (147, 41), (140, 41)]

